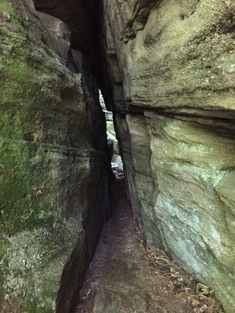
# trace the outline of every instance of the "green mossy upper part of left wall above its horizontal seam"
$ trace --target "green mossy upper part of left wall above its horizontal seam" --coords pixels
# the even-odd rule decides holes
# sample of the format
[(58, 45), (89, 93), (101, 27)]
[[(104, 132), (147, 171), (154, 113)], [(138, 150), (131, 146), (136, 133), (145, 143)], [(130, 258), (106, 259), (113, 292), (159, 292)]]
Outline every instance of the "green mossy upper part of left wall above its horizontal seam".
[[(16, 17), (8, 1), (0, 4)], [(47, 36), (38, 31), (36, 24), (29, 29), (35, 42), (29, 44), (24, 29), (13, 28), (8, 22), (0, 26), (0, 136), (33, 141), (41, 135), (37, 134), (37, 125), (42, 123), (40, 117), (46, 106), (64, 109), (60, 87), (71, 74), (49, 49), (50, 43), (48, 47), (42, 45), (41, 37)]]

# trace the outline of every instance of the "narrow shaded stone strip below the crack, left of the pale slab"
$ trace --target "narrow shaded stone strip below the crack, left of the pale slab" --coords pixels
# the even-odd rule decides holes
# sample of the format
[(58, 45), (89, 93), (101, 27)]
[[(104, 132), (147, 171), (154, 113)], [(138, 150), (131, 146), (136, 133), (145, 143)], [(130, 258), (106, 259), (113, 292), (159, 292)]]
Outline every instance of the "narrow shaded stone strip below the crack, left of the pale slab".
[[(134, 171), (134, 185), (138, 193), (142, 211), (141, 226), (149, 244), (161, 246), (158, 219), (154, 212), (156, 196), (159, 193), (157, 182), (155, 184), (150, 166), (151, 150), (150, 136), (147, 131), (145, 117), (127, 114), (129, 145)], [(132, 187), (133, 188), (133, 187)], [(138, 216), (138, 207), (133, 204), (133, 211)]]

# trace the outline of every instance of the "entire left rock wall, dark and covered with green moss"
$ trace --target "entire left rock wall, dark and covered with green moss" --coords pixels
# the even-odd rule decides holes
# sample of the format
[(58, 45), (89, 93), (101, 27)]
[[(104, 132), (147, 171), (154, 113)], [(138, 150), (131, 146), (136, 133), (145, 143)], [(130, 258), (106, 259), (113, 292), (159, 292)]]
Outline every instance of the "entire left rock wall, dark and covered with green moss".
[(105, 118), (69, 37), (0, 1), (1, 312), (70, 312), (108, 216)]

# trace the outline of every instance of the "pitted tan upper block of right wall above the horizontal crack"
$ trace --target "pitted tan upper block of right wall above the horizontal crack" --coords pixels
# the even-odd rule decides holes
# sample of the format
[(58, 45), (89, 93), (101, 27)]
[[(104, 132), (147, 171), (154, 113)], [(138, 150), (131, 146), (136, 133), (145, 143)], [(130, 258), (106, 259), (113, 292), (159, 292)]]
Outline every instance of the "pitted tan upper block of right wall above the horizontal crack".
[(232, 0), (104, 1), (106, 58), (117, 59), (126, 107), (234, 117), (234, 10)]

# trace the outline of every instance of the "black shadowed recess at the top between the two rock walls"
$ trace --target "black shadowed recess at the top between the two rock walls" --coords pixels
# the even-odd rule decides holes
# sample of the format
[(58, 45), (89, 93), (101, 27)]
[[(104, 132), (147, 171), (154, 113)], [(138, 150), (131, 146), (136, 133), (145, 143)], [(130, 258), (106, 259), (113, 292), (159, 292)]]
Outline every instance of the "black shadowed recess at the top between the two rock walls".
[(101, 0), (34, 0), (35, 9), (61, 19), (71, 31), (71, 48), (86, 54), (92, 74), (99, 73)]

